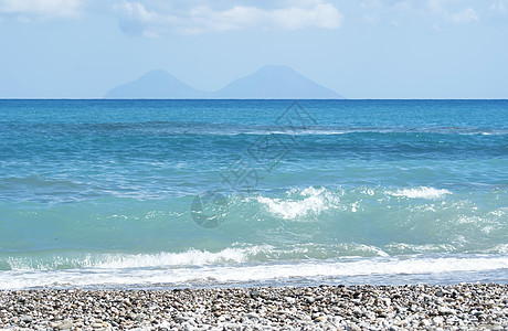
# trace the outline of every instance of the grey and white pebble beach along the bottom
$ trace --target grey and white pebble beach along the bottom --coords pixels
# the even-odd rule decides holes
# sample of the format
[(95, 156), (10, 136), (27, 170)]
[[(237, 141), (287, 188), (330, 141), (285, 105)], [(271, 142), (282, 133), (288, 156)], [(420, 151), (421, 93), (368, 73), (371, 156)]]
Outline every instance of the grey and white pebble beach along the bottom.
[(508, 330), (508, 285), (2, 290), (7, 330)]

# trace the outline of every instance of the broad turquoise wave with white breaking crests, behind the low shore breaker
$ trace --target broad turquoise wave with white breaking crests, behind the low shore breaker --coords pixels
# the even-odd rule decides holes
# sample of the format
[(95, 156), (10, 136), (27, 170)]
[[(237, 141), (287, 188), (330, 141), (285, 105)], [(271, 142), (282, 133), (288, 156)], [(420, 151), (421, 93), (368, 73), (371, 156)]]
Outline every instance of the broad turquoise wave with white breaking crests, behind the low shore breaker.
[[(272, 255), (264, 255), (265, 260), (382, 255), (341, 246), (350, 243), (375, 247), (390, 256), (483, 253), (506, 244), (508, 209), (499, 203), (506, 196), (504, 186), (306, 186), (248, 195), (233, 192), (221, 201), (224, 213), (215, 228), (201, 228), (194, 223), (194, 195), (161, 200), (100, 197), (52, 205), (3, 201), (0, 212), (9, 217), (0, 222), (0, 257), (9, 252), (14, 256), (91, 247), (99, 252), (183, 254), (194, 247), (211, 255), (188, 252), (162, 254), (161, 258), (168, 263), (192, 256), (197, 260), (240, 261), (244, 253), (215, 255), (235, 242), (275, 247)], [(292, 245), (309, 243), (316, 246), (307, 247), (305, 256), (287, 253)], [(261, 253), (258, 258), (263, 259)], [(160, 258), (155, 264), (159, 263)], [(60, 259), (53, 267), (59, 268), (59, 264), (73, 263)], [(0, 269), (9, 268), (0, 260)]]

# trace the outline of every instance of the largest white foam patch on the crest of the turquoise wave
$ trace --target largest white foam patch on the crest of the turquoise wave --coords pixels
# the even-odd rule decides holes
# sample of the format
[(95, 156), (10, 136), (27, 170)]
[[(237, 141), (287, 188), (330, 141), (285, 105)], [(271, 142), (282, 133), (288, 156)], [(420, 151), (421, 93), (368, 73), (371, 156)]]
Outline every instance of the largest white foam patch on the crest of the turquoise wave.
[(257, 196), (257, 202), (264, 204), (271, 214), (284, 220), (293, 220), (306, 215), (319, 215), (321, 212), (336, 209), (338, 197), (324, 188), (306, 188), (292, 190), (287, 197)]

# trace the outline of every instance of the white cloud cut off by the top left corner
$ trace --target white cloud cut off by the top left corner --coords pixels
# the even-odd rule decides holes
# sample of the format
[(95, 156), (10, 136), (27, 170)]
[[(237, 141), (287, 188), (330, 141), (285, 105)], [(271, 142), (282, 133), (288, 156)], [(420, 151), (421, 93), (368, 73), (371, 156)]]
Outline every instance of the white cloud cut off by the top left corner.
[(0, 0), (0, 15), (20, 21), (54, 18), (78, 18), (83, 14), (80, 0)]

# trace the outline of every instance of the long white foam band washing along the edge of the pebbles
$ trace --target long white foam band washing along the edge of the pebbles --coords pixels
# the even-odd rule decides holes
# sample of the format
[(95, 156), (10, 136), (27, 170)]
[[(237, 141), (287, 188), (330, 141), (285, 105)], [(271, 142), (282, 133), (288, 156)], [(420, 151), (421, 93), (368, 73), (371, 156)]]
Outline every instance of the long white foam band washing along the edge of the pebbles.
[[(508, 269), (508, 256), (448, 256), (430, 257), (378, 257), (361, 259), (306, 260), (295, 263), (271, 263), (256, 265), (222, 265), (202, 267), (151, 268), (89, 268), (72, 270), (32, 271), (10, 270), (0, 273), (0, 289), (54, 288), (54, 287), (170, 287), (170, 286), (219, 286), (231, 284), (271, 284), (295, 279), (336, 279), (345, 277), (396, 275), (427, 275), (436, 279), (445, 273), (502, 274)], [(369, 278), (367, 278), (369, 279)], [(372, 278), (373, 279), (373, 278)], [(458, 279), (464, 280), (464, 275)], [(505, 279), (506, 281), (506, 279)]]

